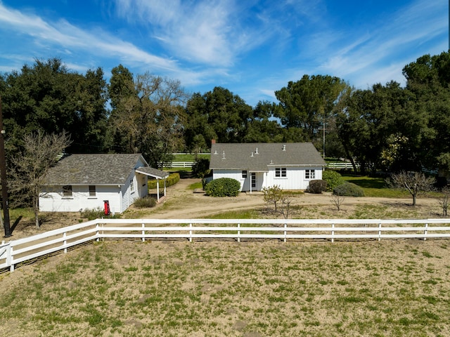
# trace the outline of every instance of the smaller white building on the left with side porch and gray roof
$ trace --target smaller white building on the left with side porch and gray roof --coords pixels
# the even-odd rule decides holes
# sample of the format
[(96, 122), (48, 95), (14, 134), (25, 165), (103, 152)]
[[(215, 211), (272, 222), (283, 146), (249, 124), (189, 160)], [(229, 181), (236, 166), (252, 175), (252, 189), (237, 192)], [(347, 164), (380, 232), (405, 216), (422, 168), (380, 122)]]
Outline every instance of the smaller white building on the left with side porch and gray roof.
[(149, 167), (141, 154), (71, 154), (44, 177), (39, 211), (77, 212), (108, 204), (112, 213), (122, 213), (146, 197), (148, 176), (158, 179), (159, 199), (159, 180), (168, 175)]

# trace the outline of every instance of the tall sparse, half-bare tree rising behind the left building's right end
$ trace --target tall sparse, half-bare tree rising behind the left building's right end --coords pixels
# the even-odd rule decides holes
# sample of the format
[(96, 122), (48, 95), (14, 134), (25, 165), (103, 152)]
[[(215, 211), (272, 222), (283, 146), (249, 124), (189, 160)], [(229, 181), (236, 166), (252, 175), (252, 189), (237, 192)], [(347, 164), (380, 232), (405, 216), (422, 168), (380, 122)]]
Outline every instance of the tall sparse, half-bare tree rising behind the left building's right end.
[[(128, 80), (123, 83), (130, 85)], [(110, 123), (117, 136), (116, 148), (140, 152), (150, 166), (158, 167), (172, 160), (172, 153), (183, 146), (188, 93), (179, 81), (149, 73), (137, 75), (133, 85), (134, 90), (128, 88), (114, 98)]]

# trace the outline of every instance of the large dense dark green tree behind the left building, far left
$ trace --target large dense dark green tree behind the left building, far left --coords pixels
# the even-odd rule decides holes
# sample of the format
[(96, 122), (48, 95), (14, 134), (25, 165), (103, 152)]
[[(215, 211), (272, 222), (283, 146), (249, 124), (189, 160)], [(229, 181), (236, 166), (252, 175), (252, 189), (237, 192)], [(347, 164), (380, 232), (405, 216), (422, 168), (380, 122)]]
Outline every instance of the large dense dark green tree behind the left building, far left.
[(0, 81), (8, 153), (20, 147), (23, 136), (39, 130), (70, 134), (71, 152), (104, 150), (107, 111), (103, 70), (70, 72), (58, 58), (35, 60)]

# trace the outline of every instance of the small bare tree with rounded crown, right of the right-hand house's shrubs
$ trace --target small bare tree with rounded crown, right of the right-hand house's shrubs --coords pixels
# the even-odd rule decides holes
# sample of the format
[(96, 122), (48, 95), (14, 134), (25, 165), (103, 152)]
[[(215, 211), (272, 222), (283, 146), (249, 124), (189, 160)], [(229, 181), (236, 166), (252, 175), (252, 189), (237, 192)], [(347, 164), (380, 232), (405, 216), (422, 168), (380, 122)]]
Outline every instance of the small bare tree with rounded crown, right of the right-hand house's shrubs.
[(387, 185), (397, 190), (406, 190), (413, 197), (413, 206), (416, 206), (418, 195), (432, 190), (435, 178), (427, 177), (420, 172), (405, 172), (392, 174), (387, 180)]

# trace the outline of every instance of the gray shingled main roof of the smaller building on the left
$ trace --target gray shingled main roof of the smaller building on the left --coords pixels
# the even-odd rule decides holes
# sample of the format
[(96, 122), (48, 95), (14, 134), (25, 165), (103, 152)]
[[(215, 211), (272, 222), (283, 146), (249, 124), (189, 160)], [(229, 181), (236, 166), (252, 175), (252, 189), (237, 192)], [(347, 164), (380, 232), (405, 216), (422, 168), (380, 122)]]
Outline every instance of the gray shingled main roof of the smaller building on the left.
[(123, 185), (141, 154), (70, 154), (47, 173), (49, 185)]

